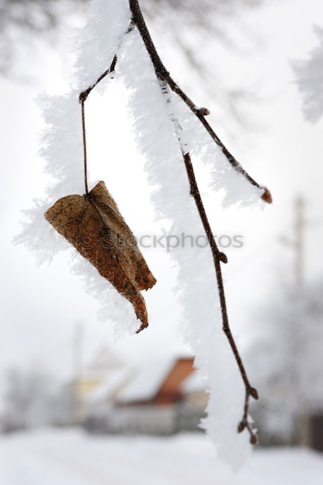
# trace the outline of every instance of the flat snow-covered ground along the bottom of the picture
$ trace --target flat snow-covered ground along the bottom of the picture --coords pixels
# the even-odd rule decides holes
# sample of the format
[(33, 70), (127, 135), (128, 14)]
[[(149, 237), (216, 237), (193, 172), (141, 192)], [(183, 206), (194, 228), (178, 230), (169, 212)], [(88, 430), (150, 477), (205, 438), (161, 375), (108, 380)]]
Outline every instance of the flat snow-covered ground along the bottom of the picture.
[(92, 437), (41, 430), (0, 438), (0, 485), (322, 485), (323, 455), (258, 449), (233, 475), (201, 435)]

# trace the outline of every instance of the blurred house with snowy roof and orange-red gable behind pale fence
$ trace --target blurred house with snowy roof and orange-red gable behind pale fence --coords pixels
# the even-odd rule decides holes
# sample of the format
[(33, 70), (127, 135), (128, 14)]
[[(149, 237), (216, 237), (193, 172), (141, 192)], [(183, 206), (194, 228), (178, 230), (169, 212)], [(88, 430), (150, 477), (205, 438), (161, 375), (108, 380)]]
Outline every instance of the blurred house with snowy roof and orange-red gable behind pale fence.
[(135, 372), (115, 368), (83, 399), (92, 432), (172, 434), (198, 430), (208, 395), (193, 358), (147, 362)]

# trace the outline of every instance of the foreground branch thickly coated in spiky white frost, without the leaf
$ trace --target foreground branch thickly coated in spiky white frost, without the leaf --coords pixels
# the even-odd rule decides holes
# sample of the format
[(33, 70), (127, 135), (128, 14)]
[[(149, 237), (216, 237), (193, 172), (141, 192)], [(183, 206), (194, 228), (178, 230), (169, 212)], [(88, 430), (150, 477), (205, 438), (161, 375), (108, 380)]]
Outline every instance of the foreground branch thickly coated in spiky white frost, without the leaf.
[[(88, 191), (84, 103), (103, 78), (122, 80), (128, 88), (137, 146), (147, 158), (145, 169), (154, 185), (152, 201), (156, 213), (172, 222), (174, 234), (189, 227), (192, 234), (204, 231), (209, 242), (205, 249), (174, 248), (171, 256), (179, 267), (178, 294), (185, 308), (185, 338), (210, 390), (208, 418), (203, 426), (217, 444), (219, 456), (238, 468), (250, 453), (250, 442), (257, 441), (248, 406), (250, 396), (257, 399), (258, 395), (249, 383), (229, 327), (221, 274), (221, 263), (227, 258), (216, 246), (197, 185), (193, 157), (201, 157), (211, 167), (213, 187), (226, 190), (227, 203), (247, 204), (259, 199), (270, 203), (271, 195), (246, 173), (217, 137), (205, 120), (208, 110), (198, 108), (173, 81), (154, 47), (138, 0), (93, 0), (92, 7), (79, 43), (77, 93), (73, 90), (66, 96), (41, 100), (50, 127), (43, 135), (42, 153), (47, 160), (46, 171), (55, 181), (47, 188), (49, 200), (39, 202), (37, 210), (28, 214), (33, 223), (26, 227), (20, 242), (39, 251), (32, 234), (39, 232), (39, 220), (44, 219), (48, 207), (66, 194), (81, 193), (84, 181)], [(82, 139), (84, 178), (80, 170)], [(45, 242), (47, 229), (44, 226)], [(42, 246), (44, 258), (46, 252), (52, 257), (51, 247), (52, 242), (48, 250), (46, 244)], [(87, 261), (79, 260), (76, 271), (104, 303), (104, 313), (116, 327), (128, 324), (133, 331), (137, 321), (130, 304), (126, 305), (128, 302), (107, 281), (102, 281)], [(236, 362), (231, 362), (232, 351)], [(250, 436), (237, 434), (237, 425), (238, 431), (246, 428)]]

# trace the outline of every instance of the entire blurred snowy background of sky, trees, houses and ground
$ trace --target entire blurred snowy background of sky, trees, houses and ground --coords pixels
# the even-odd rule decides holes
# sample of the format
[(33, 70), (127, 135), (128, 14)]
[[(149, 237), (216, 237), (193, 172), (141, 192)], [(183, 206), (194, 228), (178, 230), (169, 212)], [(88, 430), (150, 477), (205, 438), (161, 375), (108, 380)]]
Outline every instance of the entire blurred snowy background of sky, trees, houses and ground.
[[(261, 396), (252, 409), (261, 444), (234, 476), (198, 427), (208, 395), (183, 344), (166, 249), (144, 252), (159, 285), (145, 296), (149, 328), (116, 341), (68, 255), (37, 267), (12, 245), (20, 211), (45, 194), (33, 98), (68, 90), (86, 2), (0, 0), (0, 485), (321, 484), (323, 4), (140, 3), (173, 78), (273, 195), (264, 210), (223, 210), (218, 195), (202, 194), (217, 237), (243, 241), (225, 249), (224, 277)], [(134, 232), (161, 235), (145, 174), (131, 163), (125, 178), (118, 165), (140, 157), (126, 102), (113, 81), (89, 97), (90, 157), (108, 160), (104, 179)]]

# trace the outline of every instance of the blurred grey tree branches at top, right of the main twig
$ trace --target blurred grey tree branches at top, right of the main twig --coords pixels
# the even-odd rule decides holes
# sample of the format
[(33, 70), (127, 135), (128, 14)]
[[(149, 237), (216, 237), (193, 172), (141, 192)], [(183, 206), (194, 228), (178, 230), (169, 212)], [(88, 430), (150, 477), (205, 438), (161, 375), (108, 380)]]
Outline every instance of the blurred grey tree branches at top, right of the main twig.
[[(252, 52), (257, 43), (254, 33), (245, 29), (242, 14), (246, 9), (260, 6), (263, 0), (141, 0), (142, 9), (152, 25), (154, 40), (167, 38), (173, 55), (184, 59), (186, 68), (191, 71), (185, 89), (195, 91), (200, 86), (201, 105), (210, 106), (215, 102), (217, 110), (221, 107), (241, 127), (250, 128), (246, 114), (242, 114), (243, 103), (256, 98), (243, 85), (243, 80), (228, 80), (221, 73), (216, 61), (215, 48)], [(232, 32), (240, 35), (248, 44), (241, 49), (236, 44)], [(235, 32), (236, 33), (236, 32)], [(251, 43), (250, 43), (251, 40)], [(253, 44), (253, 45), (252, 45)], [(230, 81), (230, 82), (229, 82)], [(196, 95), (195, 95), (196, 97)]]

